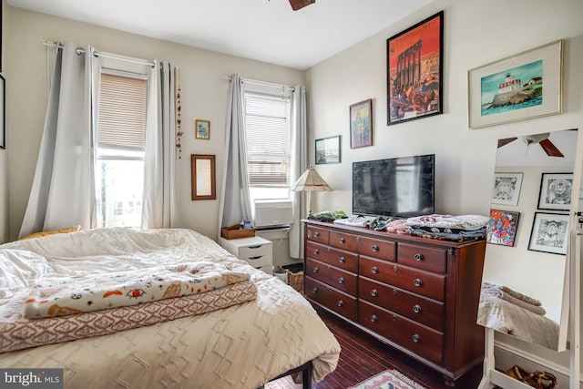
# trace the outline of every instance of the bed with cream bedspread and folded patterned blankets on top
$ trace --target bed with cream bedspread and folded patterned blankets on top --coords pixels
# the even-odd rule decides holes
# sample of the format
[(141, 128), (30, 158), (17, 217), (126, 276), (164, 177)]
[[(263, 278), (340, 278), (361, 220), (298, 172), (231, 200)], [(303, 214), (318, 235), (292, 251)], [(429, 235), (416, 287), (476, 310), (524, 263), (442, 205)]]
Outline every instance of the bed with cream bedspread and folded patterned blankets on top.
[[(199, 276), (202, 264), (226, 271), (217, 280), (234, 281), (138, 302), (139, 291), (162, 289), (152, 275), (187, 269)], [(78, 303), (86, 296), (72, 292), (71, 301), (55, 298), (57, 312), (42, 309), (85, 285), (79, 280), (97, 280), (82, 289), (95, 292), (124, 274), (142, 286), (103, 296), (130, 296), (131, 304), (84, 311), (80, 305), (95, 304)], [(299, 292), (193, 230), (80, 230), (5, 243), (0, 280), (0, 366), (62, 368), (65, 387), (258, 388), (300, 366), (318, 382), (340, 355)]]

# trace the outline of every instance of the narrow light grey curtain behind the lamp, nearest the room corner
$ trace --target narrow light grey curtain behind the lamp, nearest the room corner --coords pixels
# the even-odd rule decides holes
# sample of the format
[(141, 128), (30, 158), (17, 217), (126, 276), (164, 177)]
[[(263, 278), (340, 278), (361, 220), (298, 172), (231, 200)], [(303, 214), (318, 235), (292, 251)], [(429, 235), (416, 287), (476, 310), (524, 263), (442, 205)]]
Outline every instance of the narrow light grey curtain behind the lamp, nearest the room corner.
[[(292, 163), (291, 182), (308, 169), (308, 134), (306, 118), (306, 87), (296, 86), (292, 96)], [(305, 193), (292, 191), (293, 224), (290, 229), (290, 257), (303, 258), (303, 225), (306, 216)]]

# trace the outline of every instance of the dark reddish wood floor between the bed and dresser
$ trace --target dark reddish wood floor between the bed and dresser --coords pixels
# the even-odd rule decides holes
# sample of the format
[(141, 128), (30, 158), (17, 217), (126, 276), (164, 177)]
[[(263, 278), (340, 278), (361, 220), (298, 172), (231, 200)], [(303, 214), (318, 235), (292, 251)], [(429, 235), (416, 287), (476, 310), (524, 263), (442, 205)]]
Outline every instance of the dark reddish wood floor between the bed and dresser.
[[(359, 384), (367, 378), (396, 369), (409, 378), (423, 385), (426, 389), (445, 389), (441, 374), (427, 368), (422, 363), (399, 353), (391, 347), (376, 341), (370, 335), (353, 329), (332, 314), (318, 309), (322, 320), (328, 325), (342, 346), (340, 361), (334, 372), (328, 374), (323, 381), (312, 384), (314, 389), (345, 389)], [(476, 389), (482, 377), (482, 366), (476, 366), (469, 373), (456, 381), (458, 389)], [(290, 377), (265, 385), (265, 389), (296, 389), (301, 385), (293, 384)]]

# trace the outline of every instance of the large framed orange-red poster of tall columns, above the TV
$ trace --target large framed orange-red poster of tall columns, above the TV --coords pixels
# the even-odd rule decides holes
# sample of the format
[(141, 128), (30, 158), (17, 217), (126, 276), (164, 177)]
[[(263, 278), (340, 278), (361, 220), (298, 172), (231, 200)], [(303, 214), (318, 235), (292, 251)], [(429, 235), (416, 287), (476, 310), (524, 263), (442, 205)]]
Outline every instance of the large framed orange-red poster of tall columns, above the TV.
[(442, 113), (444, 11), (386, 41), (387, 125)]

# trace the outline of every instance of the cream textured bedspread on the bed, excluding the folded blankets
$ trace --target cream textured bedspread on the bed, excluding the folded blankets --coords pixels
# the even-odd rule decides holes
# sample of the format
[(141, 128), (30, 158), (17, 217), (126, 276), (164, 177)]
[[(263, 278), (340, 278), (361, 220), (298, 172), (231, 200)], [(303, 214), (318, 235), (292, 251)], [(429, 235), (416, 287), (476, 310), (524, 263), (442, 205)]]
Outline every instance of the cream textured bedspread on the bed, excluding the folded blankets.
[[(257, 300), (119, 333), (0, 353), (3, 368), (63, 368), (65, 387), (257, 388), (312, 361), (333, 371), (340, 345), (303, 296), (192, 230), (97, 229), (0, 245), (0, 326), (44, 276), (214, 261), (251, 273)], [(20, 308), (21, 309), (21, 308)]]

